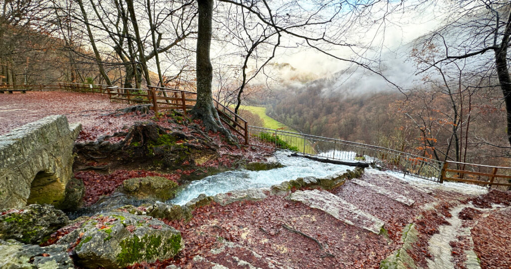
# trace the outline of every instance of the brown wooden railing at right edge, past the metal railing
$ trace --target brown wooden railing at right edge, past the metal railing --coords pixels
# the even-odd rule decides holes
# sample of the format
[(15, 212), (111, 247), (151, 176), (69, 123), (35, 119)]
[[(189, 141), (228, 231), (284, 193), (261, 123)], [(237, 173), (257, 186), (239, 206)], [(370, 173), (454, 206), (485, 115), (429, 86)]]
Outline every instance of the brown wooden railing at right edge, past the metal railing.
[[(497, 173), (500, 172), (500, 173)], [(447, 161), (442, 168), (440, 183), (458, 181), (488, 186), (511, 186), (511, 167), (499, 167)], [(499, 179), (503, 179), (499, 181)]]

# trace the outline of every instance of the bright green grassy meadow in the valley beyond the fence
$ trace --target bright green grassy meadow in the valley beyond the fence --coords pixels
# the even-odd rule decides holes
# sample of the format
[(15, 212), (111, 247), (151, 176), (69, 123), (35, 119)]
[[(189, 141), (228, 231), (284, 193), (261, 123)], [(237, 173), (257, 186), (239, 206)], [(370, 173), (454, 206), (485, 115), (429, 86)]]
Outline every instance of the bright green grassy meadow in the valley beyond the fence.
[[(259, 126), (259, 127), (299, 133), (299, 131), (294, 130), (294, 129), (290, 128), (289, 126), (285, 125), (284, 123), (279, 122), (273, 118), (270, 118), (268, 115), (266, 115), (266, 107), (242, 105), (240, 108), (242, 110), (250, 111), (253, 114), (257, 114), (264, 122), (264, 126)], [(250, 123), (248, 123), (248, 124), (250, 125)], [(289, 143), (291, 146), (297, 147), (300, 151), (304, 150), (304, 140), (303, 139), (292, 138), (292, 137), (287, 137), (287, 136), (279, 136), (279, 137), (282, 140)], [(313, 153), (313, 150), (312, 150), (312, 147), (311, 147), (309, 141), (307, 141), (307, 145), (305, 146), (305, 152)]]

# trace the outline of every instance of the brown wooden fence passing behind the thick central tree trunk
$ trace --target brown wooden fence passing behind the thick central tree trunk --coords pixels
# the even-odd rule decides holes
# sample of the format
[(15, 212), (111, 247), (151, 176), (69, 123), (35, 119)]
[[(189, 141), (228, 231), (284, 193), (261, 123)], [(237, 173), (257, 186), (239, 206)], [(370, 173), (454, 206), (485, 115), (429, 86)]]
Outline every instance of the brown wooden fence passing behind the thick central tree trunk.
[[(169, 109), (181, 109), (186, 115), (187, 110), (193, 108), (197, 102), (197, 93), (157, 86), (149, 86), (149, 89), (107, 87), (106, 93), (110, 101), (148, 103), (156, 117), (159, 117), (158, 111)], [(248, 122), (217, 100), (213, 101), (220, 121), (242, 136), (245, 144), (248, 144)]]

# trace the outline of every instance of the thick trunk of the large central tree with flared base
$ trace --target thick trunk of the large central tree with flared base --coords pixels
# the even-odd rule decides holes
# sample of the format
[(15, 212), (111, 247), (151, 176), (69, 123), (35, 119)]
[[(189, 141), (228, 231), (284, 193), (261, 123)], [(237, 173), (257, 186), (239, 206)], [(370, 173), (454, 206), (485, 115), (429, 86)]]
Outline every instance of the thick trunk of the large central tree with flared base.
[(197, 32), (197, 102), (191, 114), (206, 127), (206, 131), (220, 131), (225, 135), (227, 141), (235, 140), (229, 130), (225, 129), (218, 117), (213, 102), (213, 91), (211, 83), (213, 80), (213, 66), (210, 59), (210, 47), (213, 21), (213, 0), (197, 0), (198, 32)]

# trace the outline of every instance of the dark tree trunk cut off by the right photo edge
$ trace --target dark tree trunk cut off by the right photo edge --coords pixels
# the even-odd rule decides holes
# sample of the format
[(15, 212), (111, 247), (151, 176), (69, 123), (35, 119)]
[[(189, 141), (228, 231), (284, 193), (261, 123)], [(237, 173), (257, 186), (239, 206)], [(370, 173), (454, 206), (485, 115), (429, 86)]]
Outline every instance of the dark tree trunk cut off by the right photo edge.
[(506, 104), (506, 121), (507, 121), (507, 140), (511, 145), (511, 78), (507, 70), (507, 47), (502, 46), (501, 49), (495, 51), (495, 63), (497, 75), (499, 77), (500, 88), (504, 96)]

